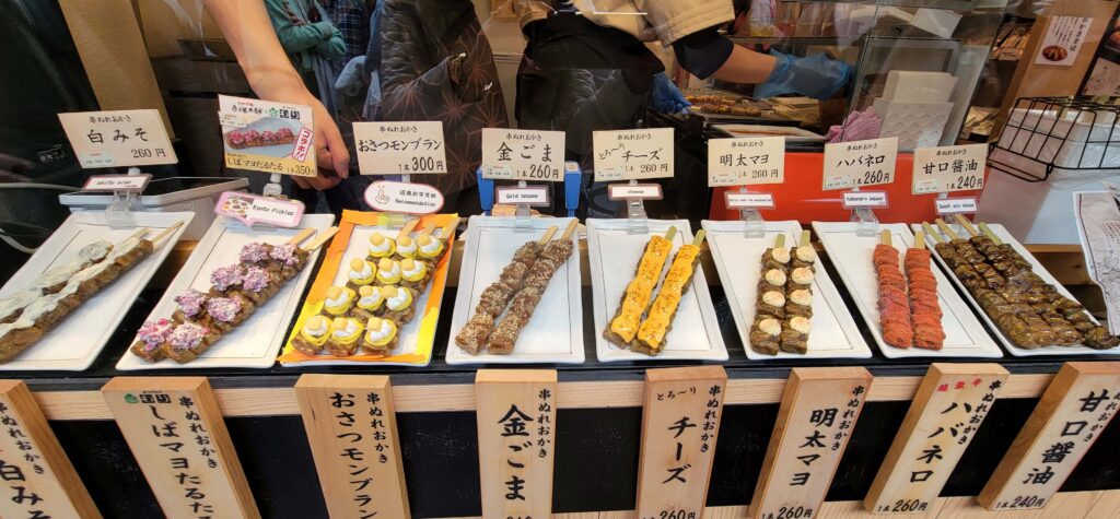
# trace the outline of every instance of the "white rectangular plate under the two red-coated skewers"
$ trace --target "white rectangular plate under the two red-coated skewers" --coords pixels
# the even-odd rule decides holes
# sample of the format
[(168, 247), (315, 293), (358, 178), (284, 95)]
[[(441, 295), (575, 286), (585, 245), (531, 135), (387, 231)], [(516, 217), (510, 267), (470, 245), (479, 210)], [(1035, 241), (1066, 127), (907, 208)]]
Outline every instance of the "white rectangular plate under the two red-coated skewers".
[[(941, 327), (945, 343), (940, 350), (924, 348), (895, 348), (883, 341), (879, 323), (879, 282), (875, 276), (871, 253), (879, 243), (879, 235), (857, 236), (857, 224), (848, 221), (813, 221), (813, 230), (824, 245), (829, 260), (840, 273), (859, 313), (864, 315), (875, 342), (883, 355), (890, 359), (909, 357), (981, 357), (1000, 358), (1004, 353), (991, 336), (972, 314), (964, 300), (953, 290), (940, 268), (931, 268), (937, 280), (937, 303), (941, 304)], [(890, 242), (898, 248), (899, 266), (906, 248), (914, 246), (914, 235), (906, 224), (883, 224), (879, 229), (890, 230)], [(932, 267), (932, 265), (931, 265)]]

